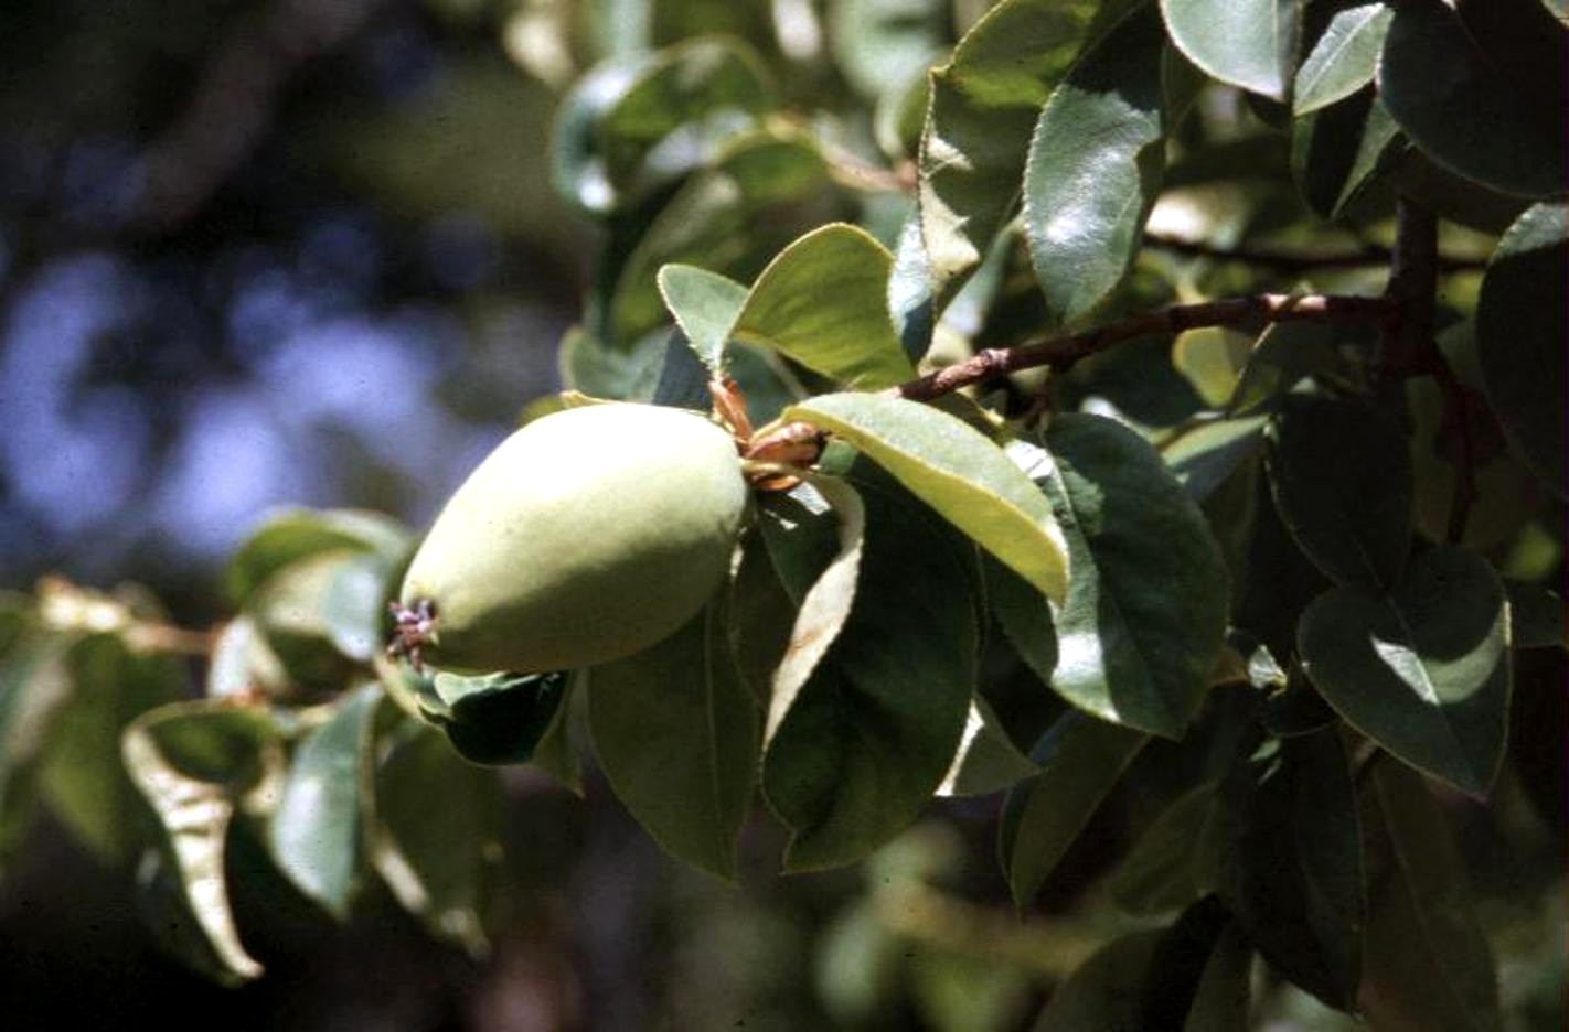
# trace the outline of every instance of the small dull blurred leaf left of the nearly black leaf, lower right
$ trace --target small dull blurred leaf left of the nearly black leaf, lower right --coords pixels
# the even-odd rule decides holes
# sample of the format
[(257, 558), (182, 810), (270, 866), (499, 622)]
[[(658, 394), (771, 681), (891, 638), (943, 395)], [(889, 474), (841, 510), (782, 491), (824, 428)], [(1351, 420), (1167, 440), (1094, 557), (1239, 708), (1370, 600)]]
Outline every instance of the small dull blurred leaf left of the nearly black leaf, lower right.
[(1219, 885), (1218, 781), (1203, 781), (1166, 806), (1111, 874), (1120, 910), (1155, 916), (1181, 910)]

